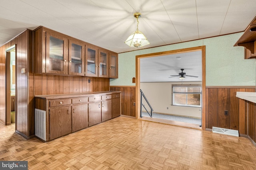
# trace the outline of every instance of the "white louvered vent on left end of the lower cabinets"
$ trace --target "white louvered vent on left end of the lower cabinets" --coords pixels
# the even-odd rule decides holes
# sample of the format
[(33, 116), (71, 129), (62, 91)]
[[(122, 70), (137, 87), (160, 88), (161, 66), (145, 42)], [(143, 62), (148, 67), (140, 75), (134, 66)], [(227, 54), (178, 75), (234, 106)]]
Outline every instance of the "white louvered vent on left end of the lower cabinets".
[(35, 109), (35, 135), (46, 141), (46, 111)]

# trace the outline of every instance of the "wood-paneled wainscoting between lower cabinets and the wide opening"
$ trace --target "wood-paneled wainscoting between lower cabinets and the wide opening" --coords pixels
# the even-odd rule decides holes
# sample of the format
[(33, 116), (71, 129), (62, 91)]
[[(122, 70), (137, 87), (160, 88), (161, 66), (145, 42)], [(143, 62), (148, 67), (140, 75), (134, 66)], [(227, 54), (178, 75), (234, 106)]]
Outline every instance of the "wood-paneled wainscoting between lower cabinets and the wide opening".
[(135, 86), (110, 86), (111, 91), (121, 91), (121, 114), (136, 117)]

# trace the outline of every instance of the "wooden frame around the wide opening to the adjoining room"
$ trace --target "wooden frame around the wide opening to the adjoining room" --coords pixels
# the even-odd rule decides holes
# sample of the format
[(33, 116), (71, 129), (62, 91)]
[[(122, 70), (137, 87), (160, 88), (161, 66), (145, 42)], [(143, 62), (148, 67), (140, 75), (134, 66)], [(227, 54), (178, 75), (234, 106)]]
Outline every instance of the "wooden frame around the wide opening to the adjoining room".
[(136, 55), (136, 119), (140, 119), (140, 59), (147, 57), (156, 57), (162, 55), (172, 55), (178, 53), (187, 53), (193, 51), (202, 51), (202, 129), (206, 129), (206, 46), (191, 47), (186, 49), (177, 49), (163, 51), (158, 53)]

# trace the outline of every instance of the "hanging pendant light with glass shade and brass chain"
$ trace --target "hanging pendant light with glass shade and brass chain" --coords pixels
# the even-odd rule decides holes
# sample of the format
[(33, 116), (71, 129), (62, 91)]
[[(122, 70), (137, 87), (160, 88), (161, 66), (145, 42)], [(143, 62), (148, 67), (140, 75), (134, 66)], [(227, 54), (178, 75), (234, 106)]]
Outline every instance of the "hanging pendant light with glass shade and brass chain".
[(138, 25), (139, 25), (138, 18), (141, 17), (141, 14), (136, 12), (133, 14), (133, 16), (134, 16), (134, 18), (137, 19), (137, 29), (134, 33), (132, 33), (128, 37), (128, 39), (126, 39), (126, 41), (124, 43), (126, 43), (130, 47), (142, 47), (144, 45), (150, 44), (150, 42), (148, 41), (146, 36), (138, 29)]

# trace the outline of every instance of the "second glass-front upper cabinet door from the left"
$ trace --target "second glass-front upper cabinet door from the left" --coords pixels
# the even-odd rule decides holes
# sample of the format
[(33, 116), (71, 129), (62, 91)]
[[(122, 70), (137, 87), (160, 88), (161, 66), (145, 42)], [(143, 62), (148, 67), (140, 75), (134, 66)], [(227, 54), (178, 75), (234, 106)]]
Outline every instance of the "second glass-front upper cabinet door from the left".
[(69, 40), (68, 74), (84, 76), (84, 49), (83, 43)]

